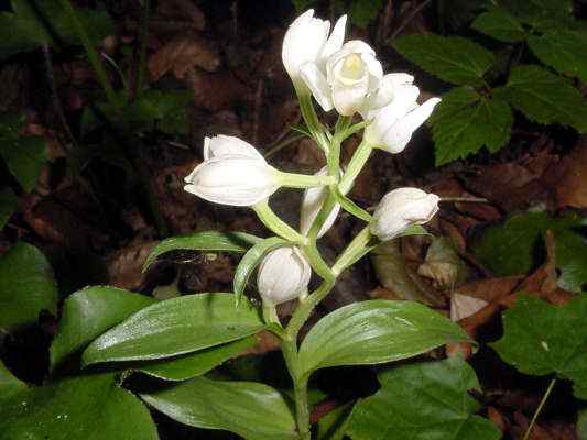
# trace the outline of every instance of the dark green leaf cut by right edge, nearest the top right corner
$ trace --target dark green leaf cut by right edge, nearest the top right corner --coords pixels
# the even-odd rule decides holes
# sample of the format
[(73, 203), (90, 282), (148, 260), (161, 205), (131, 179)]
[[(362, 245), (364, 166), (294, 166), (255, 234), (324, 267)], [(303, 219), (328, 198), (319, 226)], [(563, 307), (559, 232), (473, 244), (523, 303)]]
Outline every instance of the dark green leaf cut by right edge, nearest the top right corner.
[(587, 81), (587, 34), (566, 29), (546, 31), (532, 35), (528, 44), (544, 64), (563, 75)]

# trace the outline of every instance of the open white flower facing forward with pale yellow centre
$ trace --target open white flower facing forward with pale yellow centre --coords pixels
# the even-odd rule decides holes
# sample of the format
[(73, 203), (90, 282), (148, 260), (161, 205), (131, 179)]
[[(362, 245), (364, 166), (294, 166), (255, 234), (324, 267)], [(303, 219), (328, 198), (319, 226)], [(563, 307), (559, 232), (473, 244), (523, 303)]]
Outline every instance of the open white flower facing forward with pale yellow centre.
[(325, 111), (333, 107), (343, 116), (365, 108), (387, 106), (393, 98), (393, 84), (385, 81), (381, 63), (365, 42), (349, 41), (326, 65), (306, 63), (302, 78)]

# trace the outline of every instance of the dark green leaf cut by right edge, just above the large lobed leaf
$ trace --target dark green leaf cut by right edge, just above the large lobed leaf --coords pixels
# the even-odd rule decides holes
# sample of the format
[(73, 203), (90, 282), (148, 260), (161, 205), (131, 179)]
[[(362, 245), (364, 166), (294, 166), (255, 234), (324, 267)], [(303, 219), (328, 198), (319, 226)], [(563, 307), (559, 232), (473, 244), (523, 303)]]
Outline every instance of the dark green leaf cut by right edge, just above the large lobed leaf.
[(556, 267), (561, 271), (558, 287), (580, 294), (587, 292), (587, 240), (570, 231), (555, 233)]

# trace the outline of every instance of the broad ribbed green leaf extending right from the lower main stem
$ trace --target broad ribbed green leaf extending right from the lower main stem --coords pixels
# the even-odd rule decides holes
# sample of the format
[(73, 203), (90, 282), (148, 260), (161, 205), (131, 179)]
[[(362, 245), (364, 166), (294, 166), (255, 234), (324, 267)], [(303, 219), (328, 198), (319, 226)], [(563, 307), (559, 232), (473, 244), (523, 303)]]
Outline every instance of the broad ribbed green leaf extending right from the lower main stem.
[(356, 302), (309, 331), (300, 348), (301, 375), (327, 366), (399, 361), (463, 340), (468, 337), (460, 327), (418, 302)]

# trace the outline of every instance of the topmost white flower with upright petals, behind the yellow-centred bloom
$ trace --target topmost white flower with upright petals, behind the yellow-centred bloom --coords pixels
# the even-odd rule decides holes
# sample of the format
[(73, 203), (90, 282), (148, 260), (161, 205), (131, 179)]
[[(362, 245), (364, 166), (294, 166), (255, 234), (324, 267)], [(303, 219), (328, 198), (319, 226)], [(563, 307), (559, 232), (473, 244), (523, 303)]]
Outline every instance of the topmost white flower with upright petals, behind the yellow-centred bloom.
[(302, 65), (306, 63), (325, 65), (326, 59), (343, 45), (346, 22), (347, 15), (339, 18), (328, 37), (330, 22), (315, 19), (314, 10), (311, 9), (290, 25), (283, 37), (281, 55), (285, 70), (298, 92), (307, 91), (300, 76)]

